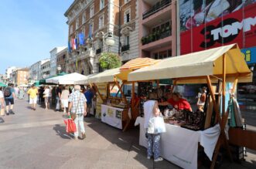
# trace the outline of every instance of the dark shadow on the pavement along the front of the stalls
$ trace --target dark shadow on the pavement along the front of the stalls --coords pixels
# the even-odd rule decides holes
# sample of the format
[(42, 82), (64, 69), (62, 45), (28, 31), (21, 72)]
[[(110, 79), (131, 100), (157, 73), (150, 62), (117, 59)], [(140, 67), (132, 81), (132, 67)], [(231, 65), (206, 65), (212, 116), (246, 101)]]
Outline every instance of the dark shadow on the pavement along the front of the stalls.
[[(127, 162), (132, 164), (131, 167), (143, 165), (146, 168), (179, 168), (169, 161), (154, 162), (147, 159), (147, 150), (138, 143), (139, 127), (132, 127), (125, 132), (117, 128), (111, 127), (108, 124), (101, 123), (100, 120), (95, 120), (94, 117), (85, 118), (88, 123), (87, 127), (96, 131), (97, 134), (111, 142), (111, 149), (129, 151)], [(109, 154), (111, 155), (111, 154)]]

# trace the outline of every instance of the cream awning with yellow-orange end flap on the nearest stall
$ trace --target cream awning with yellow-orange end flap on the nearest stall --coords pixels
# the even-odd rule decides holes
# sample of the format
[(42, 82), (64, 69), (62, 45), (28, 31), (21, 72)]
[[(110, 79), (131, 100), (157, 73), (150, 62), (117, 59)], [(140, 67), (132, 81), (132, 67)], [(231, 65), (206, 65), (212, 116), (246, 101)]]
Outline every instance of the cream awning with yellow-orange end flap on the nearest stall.
[(128, 81), (178, 78), (179, 83), (206, 83), (206, 79), (200, 77), (221, 77), (224, 55), (227, 81), (237, 76), (238, 82), (251, 82), (251, 70), (237, 44), (162, 59), (153, 66), (129, 73)]

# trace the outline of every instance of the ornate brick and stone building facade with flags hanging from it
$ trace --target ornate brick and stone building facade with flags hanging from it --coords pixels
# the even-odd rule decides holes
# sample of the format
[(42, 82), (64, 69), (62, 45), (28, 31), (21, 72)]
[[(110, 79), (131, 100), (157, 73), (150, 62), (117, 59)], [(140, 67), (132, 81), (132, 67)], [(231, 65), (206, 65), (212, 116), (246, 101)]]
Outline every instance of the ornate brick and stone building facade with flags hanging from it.
[[(138, 57), (138, 0), (75, 0), (65, 12), (69, 25), (69, 42), (80, 40), (85, 44), (70, 51), (67, 59), (68, 72), (98, 73), (101, 52), (114, 52), (127, 61)], [(105, 39), (108, 33), (114, 38), (109, 48)]]

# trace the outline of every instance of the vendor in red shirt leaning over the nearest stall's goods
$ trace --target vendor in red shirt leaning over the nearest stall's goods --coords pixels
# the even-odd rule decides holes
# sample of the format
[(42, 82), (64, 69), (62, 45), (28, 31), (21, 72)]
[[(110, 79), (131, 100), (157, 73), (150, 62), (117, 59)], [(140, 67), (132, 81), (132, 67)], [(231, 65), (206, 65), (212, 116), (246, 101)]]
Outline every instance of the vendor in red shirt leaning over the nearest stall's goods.
[(166, 102), (159, 103), (159, 106), (168, 106), (169, 104), (171, 104), (176, 110), (188, 110), (190, 112), (193, 111), (189, 102), (183, 99), (177, 92), (172, 93), (171, 98), (169, 98), (169, 100)]

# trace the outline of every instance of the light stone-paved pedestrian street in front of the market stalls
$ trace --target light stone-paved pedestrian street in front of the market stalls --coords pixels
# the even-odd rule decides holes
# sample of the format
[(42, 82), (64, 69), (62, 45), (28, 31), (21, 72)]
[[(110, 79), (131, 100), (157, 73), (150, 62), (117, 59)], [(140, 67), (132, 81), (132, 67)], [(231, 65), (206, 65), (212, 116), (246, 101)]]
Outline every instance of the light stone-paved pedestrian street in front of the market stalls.
[[(66, 134), (62, 113), (25, 100), (15, 102), (15, 115), (0, 123), (0, 168), (179, 168), (168, 161), (146, 159), (138, 146), (138, 129), (123, 133), (95, 120), (86, 120), (85, 140)], [(254, 168), (256, 157), (248, 153), (243, 164), (225, 162), (221, 168)]]

